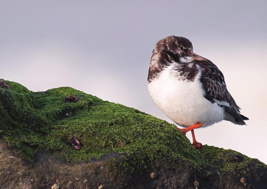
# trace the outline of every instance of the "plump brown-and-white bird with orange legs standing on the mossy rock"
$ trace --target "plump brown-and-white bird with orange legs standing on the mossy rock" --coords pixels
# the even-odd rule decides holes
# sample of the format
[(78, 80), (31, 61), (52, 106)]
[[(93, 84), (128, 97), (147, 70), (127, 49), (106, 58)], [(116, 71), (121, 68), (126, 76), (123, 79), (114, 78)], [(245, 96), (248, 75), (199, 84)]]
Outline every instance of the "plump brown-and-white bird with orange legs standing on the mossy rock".
[(191, 131), (193, 146), (201, 148), (194, 129), (222, 120), (245, 125), (247, 117), (228, 92), (222, 72), (210, 60), (193, 52), (184, 37), (168, 36), (159, 40), (150, 60), (148, 92), (158, 108), (184, 135)]

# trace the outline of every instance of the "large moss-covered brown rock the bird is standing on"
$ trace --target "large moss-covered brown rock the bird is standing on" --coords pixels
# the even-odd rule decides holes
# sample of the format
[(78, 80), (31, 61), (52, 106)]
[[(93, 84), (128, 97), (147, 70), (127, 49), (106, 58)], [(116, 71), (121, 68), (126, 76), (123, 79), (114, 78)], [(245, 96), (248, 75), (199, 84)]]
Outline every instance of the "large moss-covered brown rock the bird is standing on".
[[(33, 188), (51, 187), (56, 175), (64, 175), (57, 180), (62, 188), (101, 184), (106, 188), (265, 188), (267, 184), (266, 165), (257, 159), (207, 145), (194, 149), (173, 124), (137, 109), (70, 87), (32, 92), (16, 82), (5, 82), (8, 88), (0, 88), (0, 155), (15, 153), (20, 159), (18, 170), (23, 164), (37, 166), (40, 172), (57, 167), (48, 173), (51, 180), (30, 182)], [(77, 102), (64, 103), (68, 95), (77, 96)], [(70, 143), (73, 136), (82, 144), (79, 151)], [(5, 163), (9, 162), (3, 161), (5, 157), (0, 176), (6, 179), (12, 164)], [(44, 163), (44, 158), (50, 163)], [(81, 172), (74, 174), (71, 166)], [(30, 172), (44, 176), (35, 169)], [(157, 176), (152, 174), (151, 179), (152, 172)], [(87, 181), (79, 183), (73, 175)], [(0, 179), (0, 185), (10, 187), (5, 179)]]

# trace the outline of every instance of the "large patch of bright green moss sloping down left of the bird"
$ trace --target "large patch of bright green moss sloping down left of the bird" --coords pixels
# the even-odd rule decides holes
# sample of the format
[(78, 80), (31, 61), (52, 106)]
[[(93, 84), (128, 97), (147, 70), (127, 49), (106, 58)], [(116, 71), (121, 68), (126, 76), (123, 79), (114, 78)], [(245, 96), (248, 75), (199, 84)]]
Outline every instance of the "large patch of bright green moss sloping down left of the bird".
[[(166, 121), (70, 87), (34, 93), (18, 83), (5, 82), (9, 88), (0, 90), (4, 118), (0, 131), (29, 160), (43, 150), (61, 151), (75, 162), (116, 152), (132, 156), (127, 166), (137, 168), (162, 162), (173, 166), (178, 159), (198, 168), (205, 164), (199, 151)], [(77, 103), (63, 103), (69, 94), (79, 97)], [(80, 151), (70, 144), (73, 135), (83, 144)]]

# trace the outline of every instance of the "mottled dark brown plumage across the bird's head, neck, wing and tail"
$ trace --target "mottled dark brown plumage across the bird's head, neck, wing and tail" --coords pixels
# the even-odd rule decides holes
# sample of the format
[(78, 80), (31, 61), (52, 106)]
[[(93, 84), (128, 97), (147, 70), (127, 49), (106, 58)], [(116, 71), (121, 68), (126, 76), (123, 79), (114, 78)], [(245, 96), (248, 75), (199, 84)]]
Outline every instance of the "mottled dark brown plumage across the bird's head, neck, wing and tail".
[(194, 81), (201, 70), (200, 81), (205, 98), (211, 103), (217, 103), (225, 111), (235, 117), (235, 120), (248, 120), (239, 114), (239, 107), (226, 88), (224, 76), (218, 67), (210, 60), (193, 53), (192, 43), (184, 37), (168, 36), (156, 43), (152, 52), (150, 68), (148, 70), (148, 83), (157, 78), (161, 71), (170, 65), (176, 71), (177, 80)]

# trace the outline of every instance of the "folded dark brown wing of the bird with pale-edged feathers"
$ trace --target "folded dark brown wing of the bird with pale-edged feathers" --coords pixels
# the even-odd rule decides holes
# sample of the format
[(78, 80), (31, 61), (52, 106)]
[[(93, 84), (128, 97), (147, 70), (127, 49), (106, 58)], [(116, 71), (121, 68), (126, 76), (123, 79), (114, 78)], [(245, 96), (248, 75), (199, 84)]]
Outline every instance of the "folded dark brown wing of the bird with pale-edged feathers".
[(240, 108), (228, 92), (224, 76), (217, 66), (209, 60), (196, 61), (195, 63), (202, 70), (200, 81), (206, 92), (204, 97), (212, 103), (216, 102), (219, 106), (224, 107), (226, 112), (242, 123), (244, 122), (243, 120), (248, 120), (247, 117), (239, 114)]

